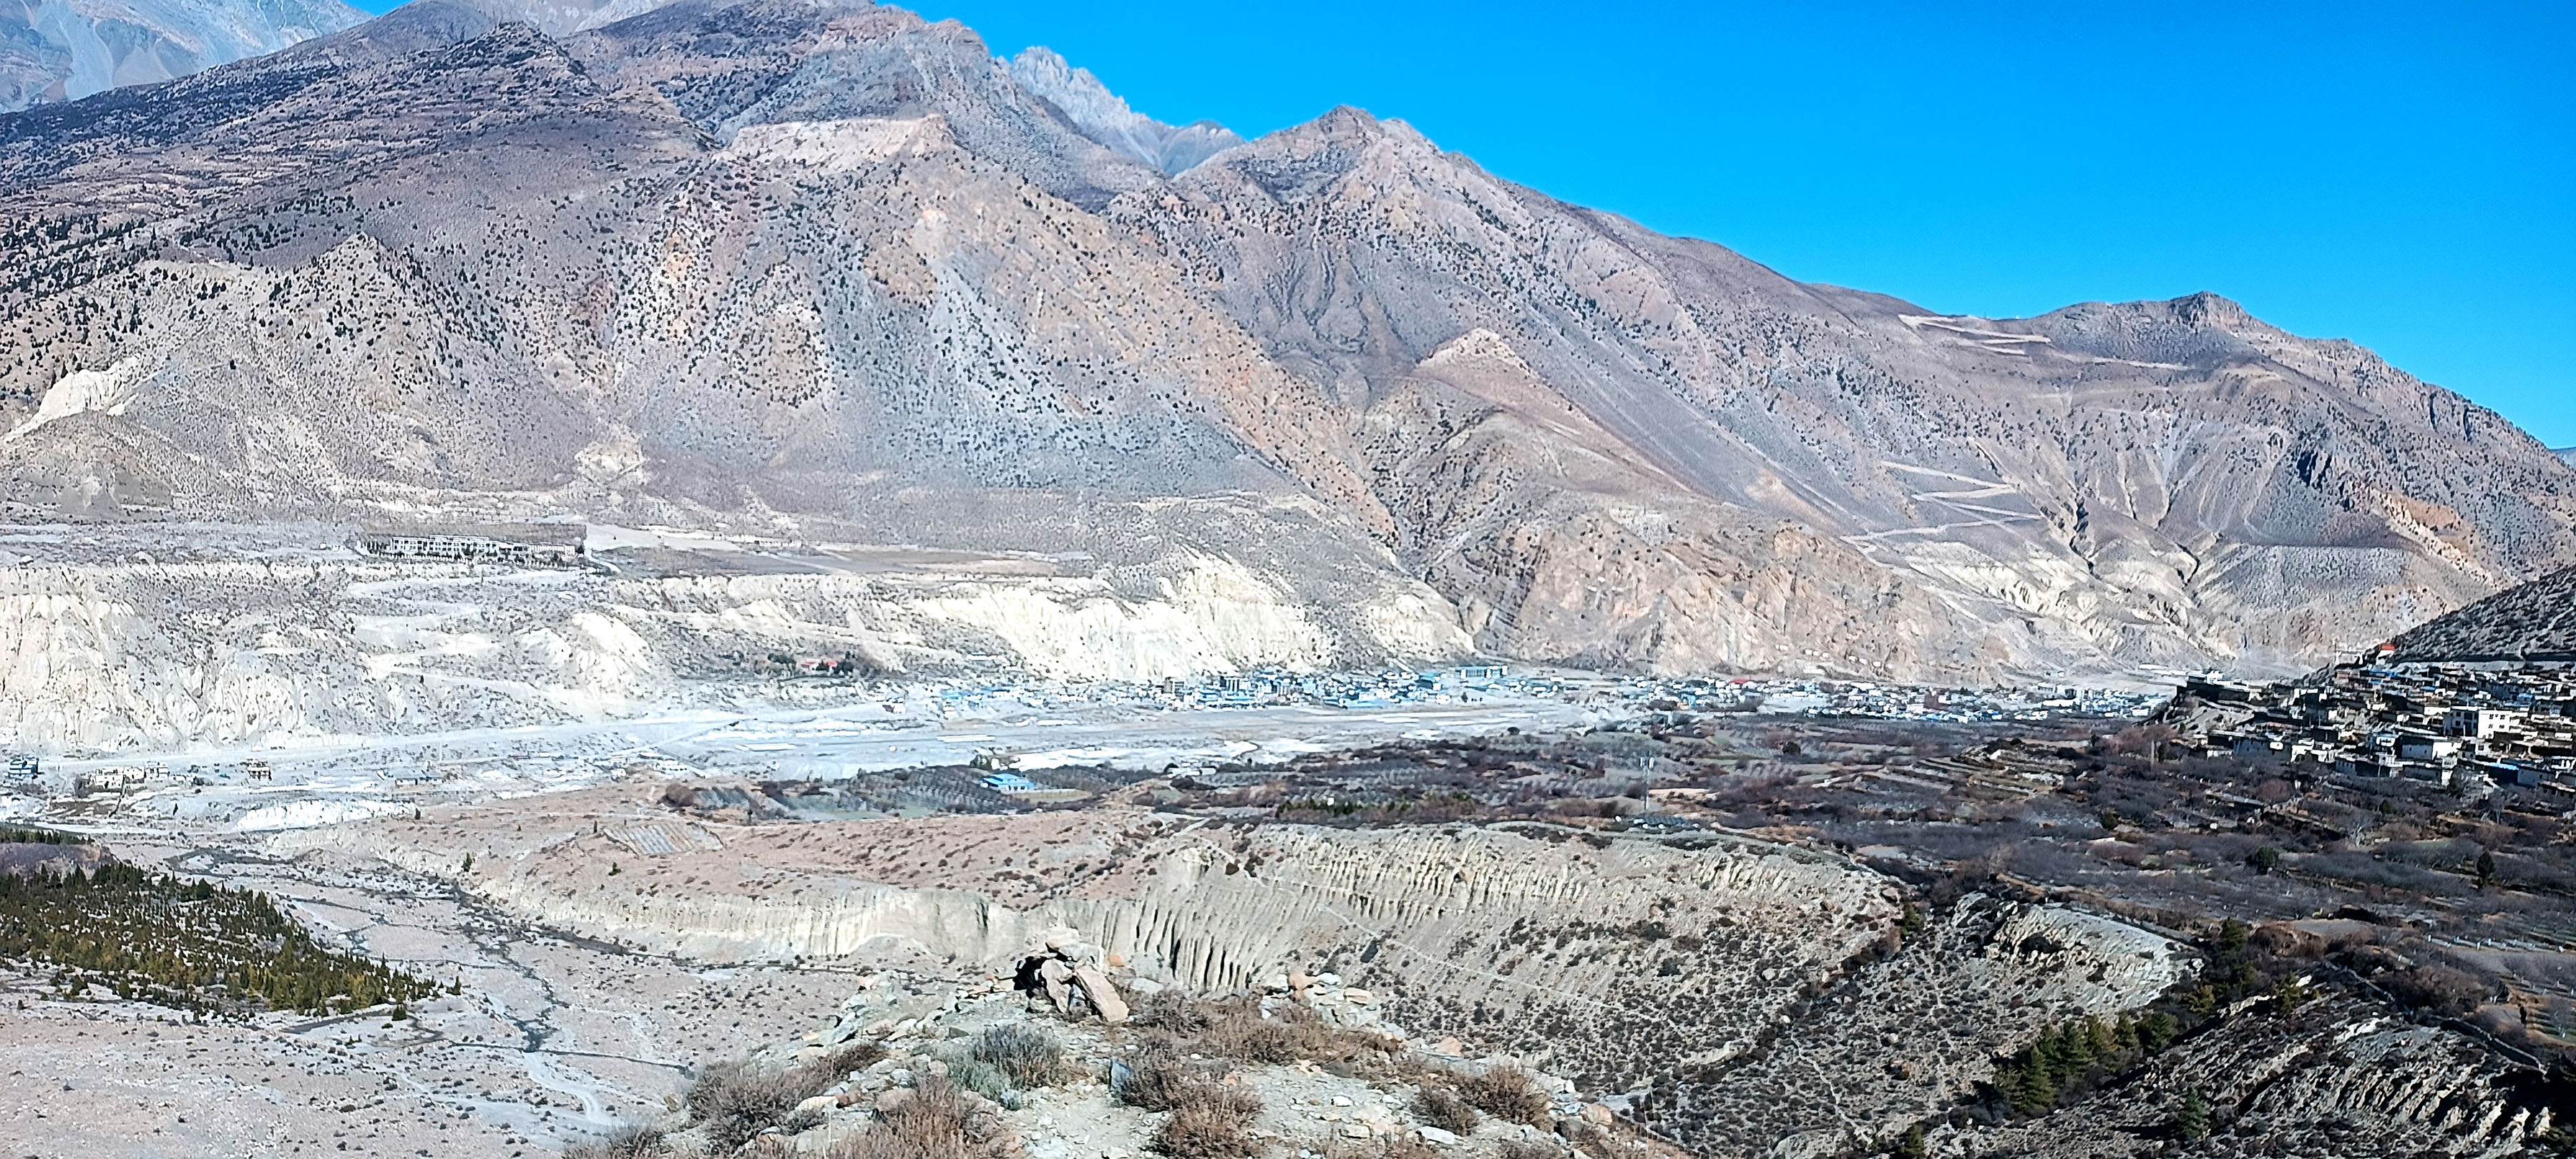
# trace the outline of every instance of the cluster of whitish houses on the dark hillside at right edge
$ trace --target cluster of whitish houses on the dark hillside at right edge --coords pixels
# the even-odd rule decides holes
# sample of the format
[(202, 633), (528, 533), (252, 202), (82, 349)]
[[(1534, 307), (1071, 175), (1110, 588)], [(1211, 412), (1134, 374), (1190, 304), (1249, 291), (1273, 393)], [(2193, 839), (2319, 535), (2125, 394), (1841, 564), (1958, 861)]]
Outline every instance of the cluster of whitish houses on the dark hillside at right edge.
[(2576, 672), (2349, 664), (2324, 680), (2195, 677), (2174, 724), (2208, 757), (2313, 762), (2347, 778), (2540, 786), (2576, 775)]

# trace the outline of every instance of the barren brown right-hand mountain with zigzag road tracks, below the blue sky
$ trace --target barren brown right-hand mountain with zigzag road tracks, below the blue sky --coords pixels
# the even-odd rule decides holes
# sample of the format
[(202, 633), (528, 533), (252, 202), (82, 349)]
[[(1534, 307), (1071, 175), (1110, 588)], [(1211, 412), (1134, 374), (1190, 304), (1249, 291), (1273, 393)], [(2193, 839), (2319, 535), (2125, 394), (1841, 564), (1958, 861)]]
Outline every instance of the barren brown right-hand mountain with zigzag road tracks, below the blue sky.
[[(1461, 332), (1497, 335), (1540, 391), (1659, 471), (1600, 497), (1605, 513), (1687, 525), (1685, 500), (1713, 500), (1821, 536), (1834, 551), (1803, 577), (1901, 577), (1940, 616), (1984, 623), (1989, 662), (2277, 667), (2571, 551), (2576, 474), (2535, 440), (2215, 296), (1929, 317), (1556, 203), (1347, 108), (1113, 214), (1355, 410), (1401, 404), (1414, 366)], [(1381, 479), (1381, 495), (1414, 487)], [(1450, 598), (1502, 608), (1484, 639), (1517, 654), (1602, 641), (1597, 608), (1530, 590), (1615, 592), (1638, 559), (1741, 556), (1695, 531), (1610, 549), (1574, 549), (1561, 520), (1515, 531), (1517, 554), (1427, 546), (1422, 567)], [(1623, 659), (1744, 654), (1708, 603), (1623, 618), (1651, 641)], [(1914, 616), (1891, 626), (1940, 636)]]

